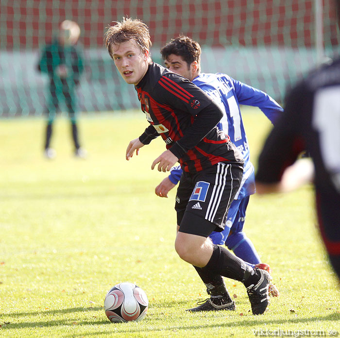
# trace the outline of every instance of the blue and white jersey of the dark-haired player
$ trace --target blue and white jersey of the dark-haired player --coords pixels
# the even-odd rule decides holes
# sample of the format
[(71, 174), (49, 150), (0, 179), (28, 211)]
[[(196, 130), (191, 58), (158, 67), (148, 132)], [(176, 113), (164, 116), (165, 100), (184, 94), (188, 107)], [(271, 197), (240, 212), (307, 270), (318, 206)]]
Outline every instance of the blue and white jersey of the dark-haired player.
[[(249, 146), (239, 105), (258, 107), (273, 123), (283, 112), (282, 107), (265, 92), (234, 80), (226, 74), (201, 73), (193, 81), (219, 105), (224, 113), (218, 127), (230, 136), (230, 140), (242, 152), (244, 172), (242, 184), (236, 199), (255, 193), (254, 166), (250, 162)], [(169, 179), (177, 184), (182, 171), (179, 167), (171, 170)]]

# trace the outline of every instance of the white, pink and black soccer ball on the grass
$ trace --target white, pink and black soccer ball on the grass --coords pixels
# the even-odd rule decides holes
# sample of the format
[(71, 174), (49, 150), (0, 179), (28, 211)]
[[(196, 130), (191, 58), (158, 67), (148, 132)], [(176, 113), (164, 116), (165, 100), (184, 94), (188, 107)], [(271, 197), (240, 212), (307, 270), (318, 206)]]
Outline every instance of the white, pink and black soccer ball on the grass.
[(141, 321), (148, 311), (146, 293), (133, 283), (119, 283), (107, 292), (104, 300), (106, 317), (114, 322)]

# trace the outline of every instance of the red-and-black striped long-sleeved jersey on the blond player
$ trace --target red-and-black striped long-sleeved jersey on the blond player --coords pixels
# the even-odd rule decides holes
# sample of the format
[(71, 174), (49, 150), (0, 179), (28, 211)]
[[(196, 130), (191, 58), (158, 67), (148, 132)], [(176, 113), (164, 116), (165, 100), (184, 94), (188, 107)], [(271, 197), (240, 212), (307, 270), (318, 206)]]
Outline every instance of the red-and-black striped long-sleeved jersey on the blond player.
[(229, 136), (216, 127), (223, 116), (221, 109), (195, 84), (152, 63), (135, 88), (151, 124), (139, 137), (143, 144), (161, 135), (187, 172), (218, 162), (243, 162)]

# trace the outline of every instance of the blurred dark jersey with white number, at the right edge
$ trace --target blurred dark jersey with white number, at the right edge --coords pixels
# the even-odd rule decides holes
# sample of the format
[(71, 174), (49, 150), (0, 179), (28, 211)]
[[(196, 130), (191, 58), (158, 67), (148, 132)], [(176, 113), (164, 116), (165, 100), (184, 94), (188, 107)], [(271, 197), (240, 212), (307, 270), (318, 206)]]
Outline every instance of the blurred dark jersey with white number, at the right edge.
[(259, 156), (256, 180), (277, 183), (284, 170), (307, 150), (315, 186), (340, 192), (340, 59), (312, 71), (292, 88), (285, 112)]

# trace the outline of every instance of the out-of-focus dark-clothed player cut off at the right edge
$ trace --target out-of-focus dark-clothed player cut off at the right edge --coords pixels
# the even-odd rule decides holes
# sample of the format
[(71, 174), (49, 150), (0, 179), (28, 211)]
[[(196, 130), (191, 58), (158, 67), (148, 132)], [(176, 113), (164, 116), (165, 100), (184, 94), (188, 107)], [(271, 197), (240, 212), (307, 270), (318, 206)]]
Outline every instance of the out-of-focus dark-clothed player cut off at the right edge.
[[(339, 15), (340, 1), (335, 3)], [(305, 149), (314, 170), (305, 160), (295, 162)], [(317, 68), (290, 90), (285, 113), (260, 154), (256, 190), (287, 191), (307, 176), (315, 185), (321, 236), (340, 278), (340, 59)]]

